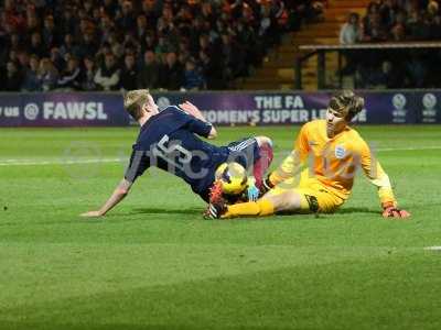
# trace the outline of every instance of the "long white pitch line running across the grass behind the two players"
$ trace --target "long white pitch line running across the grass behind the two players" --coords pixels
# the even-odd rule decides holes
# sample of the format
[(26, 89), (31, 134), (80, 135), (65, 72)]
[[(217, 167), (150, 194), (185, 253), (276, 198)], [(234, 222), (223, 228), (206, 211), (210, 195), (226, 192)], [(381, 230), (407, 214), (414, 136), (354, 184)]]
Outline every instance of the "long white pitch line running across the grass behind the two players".
[[(441, 150), (441, 146), (409, 146), (409, 147), (379, 147), (375, 152), (392, 152), (392, 151), (418, 151), (418, 150)], [(290, 151), (278, 152), (288, 154)], [(99, 164), (99, 163), (118, 163), (126, 162), (120, 158), (93, 158), (76, 161), (32, 161), (32, 160), (0, 160), (0, 166), (30, 166), (30, 165), (76, 165), (76, 164)]]

